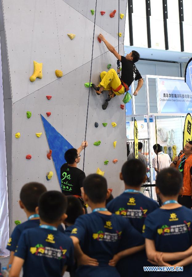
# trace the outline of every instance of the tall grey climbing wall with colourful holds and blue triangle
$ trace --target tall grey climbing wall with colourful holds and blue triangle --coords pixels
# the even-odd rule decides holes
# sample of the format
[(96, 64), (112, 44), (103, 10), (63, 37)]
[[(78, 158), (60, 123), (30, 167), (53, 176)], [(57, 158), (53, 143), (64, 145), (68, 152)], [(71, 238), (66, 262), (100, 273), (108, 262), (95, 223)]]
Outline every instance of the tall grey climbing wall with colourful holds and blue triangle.
[[(103, 42), (99, 43), (97, 36), (102, 33), (118, 51), (118, 20), (122, 33), (119, 50), (124, 54), (125, 16), (119, 19), (118, 3), (120, 13), (126, 14), (126, 0), (97, 0), (91, 77), (96, 84), (100, 82), (100, 72), (107, 71), (109, 63), (116, 69), (116, 58)], [(69, 145), (80, 146), (85, 137), (86, 122), (89, 146), (85, 151), (85, 174), (100, 168), (105, 172), (104, 177), (114, 196), (123, 190), (119, 172), (126, 161), (125, 109), (120, 108), (124, 96), (116, 96), (109, 102), (107, 110), (102, 110), (107, 93), (98, 96), (91, 89), (87, 117), (89, 89), (84, 83), (90, 78), (95, 19), (91, 10), (95, 11), (95, 5), (95, 0), (2, 0), (9, 66), (6, 78), (10, 79), (12, 98), (12, 142), (6, 144), (6, 149), (12, 150), (12, 182), (9, 180), (8, 186), (12, 194), (10, 216), (13, 227), (15, 220), (25, 220), (18, 206), (24, 183), (38, 181), (48, 190), (60, 190), (58, 161), (61, 163), (63, 159), (64, 163), (63, 154)], [(117, 12), (110, 18), (113, 10)], [(100, 11), (105, 14), (101, 15)], [(71, 40), (67, 33), (76, 36)], [(43, 78), (31, 82), (33, 61), (43, 63)], [(62, 70), (63, 77), (57, 78), (55, 70)], [(31, 113), (28, 113), (29, 118), (27, 111)], [(47, 116), (47, 112), (51, 115)], [(98, 128), (95, 122), (98, 122)], [(108, 123), (105, 127), (104, 122)], [(112, 127), (111, 122), (116, 122), (116, 127)], [(99, 140), (99, 146), (93, 145)], [(50, 145), (54, 149), (51, 159), (47, 159)], [(26, 159), (27, 155), (31, 155), (31, 159)], [(118, 162), (113, 163), (114, 159)], [(109, 161), (106, 165), (105, 160)], [(10, 163), (9, 159), (7, 163)], [(83, 169), (83, 155), (78, 167)], [(50, 171), (53, 176), (47, 180)]]

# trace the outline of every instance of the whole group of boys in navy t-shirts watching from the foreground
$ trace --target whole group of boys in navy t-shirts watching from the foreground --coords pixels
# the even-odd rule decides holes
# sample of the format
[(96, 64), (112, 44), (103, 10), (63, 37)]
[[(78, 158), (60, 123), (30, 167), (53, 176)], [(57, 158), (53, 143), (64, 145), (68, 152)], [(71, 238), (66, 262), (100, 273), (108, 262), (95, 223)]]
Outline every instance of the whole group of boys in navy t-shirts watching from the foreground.
[[(177, 202), (181, 173), (167, 168), (157, 175), (162, 207), (140, 193), (146, 180), (141, 161), (127, 161), (120, 179), (125, 191), (114, 199), (104, 177), (84, 179), (89, 214), (74, 196), (47, 191), (40, 183), (25, 184), (19, 205), (28, 220), (15, 227), (8, 241), (9, 276), (18, 277), (21, 270), (27, 277), (59, 277), (65, 271), (71, 277), (192, 276), (192, 211)], [(155, 271), (144, 271), (155, 266)], [(173, 271), (158, 271), (169, 266)]]

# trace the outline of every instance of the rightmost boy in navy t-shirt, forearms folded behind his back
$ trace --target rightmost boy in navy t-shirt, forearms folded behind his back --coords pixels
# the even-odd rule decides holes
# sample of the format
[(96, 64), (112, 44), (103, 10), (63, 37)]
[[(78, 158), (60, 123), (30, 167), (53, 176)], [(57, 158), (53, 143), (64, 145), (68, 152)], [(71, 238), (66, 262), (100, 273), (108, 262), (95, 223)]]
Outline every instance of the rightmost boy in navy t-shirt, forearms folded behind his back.
[[(174, 168), (163, 169), (156, 179), (156, 192), (163, 206), (147, 216), (143, 225), (146, 253), (154, 261), (158, 252), (171, 264), (192, 254), (192, 211), (177, 202), (182, 195), (182, 175)], [(151, 276), (192, 276), (192, 265), (183, 272), (151, 272)]]

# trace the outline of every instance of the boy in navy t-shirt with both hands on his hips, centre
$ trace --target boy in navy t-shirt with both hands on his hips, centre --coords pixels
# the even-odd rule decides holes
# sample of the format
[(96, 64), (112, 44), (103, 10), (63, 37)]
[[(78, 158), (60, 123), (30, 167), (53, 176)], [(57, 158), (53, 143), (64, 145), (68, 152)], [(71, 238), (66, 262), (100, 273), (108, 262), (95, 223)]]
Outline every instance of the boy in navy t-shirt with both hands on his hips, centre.
[(109, 192), (104, 177), (89, 175), (84, 179), (83, 187), (83, 197), (92, 213), (81, 215), (76, 220), (71, 238), (80, 264), (81, 256), (87, 256), (88, 264), (80, 266), (76, 276), (119, 277), (116, 262), (144, 249), (141, 234), (128, 220), (106, 209), (105, 200)]

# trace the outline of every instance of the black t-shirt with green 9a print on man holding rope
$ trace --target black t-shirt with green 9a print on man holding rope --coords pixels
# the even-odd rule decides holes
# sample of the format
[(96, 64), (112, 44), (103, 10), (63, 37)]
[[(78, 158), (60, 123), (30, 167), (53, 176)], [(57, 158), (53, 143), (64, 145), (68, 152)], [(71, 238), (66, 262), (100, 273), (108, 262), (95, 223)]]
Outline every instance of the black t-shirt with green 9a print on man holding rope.
[(61, 189), (65, 195), (80, 195), (85, 173), (77, 167), (64, 163), (61, 167)]

